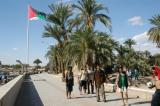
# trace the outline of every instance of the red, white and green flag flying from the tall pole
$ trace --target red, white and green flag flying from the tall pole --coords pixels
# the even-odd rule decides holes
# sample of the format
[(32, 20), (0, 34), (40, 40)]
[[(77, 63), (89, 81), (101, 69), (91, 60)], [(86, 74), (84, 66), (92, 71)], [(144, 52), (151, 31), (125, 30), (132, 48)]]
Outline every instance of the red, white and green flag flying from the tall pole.
[(31, 6), (29, 6), (28, 7), (28, 19), (29, 20), (38, 20), (38, 19), (45, 20), (46, 14), (43, 12), (39, 12), (35, 10), (34, 8), (32, 8)]

